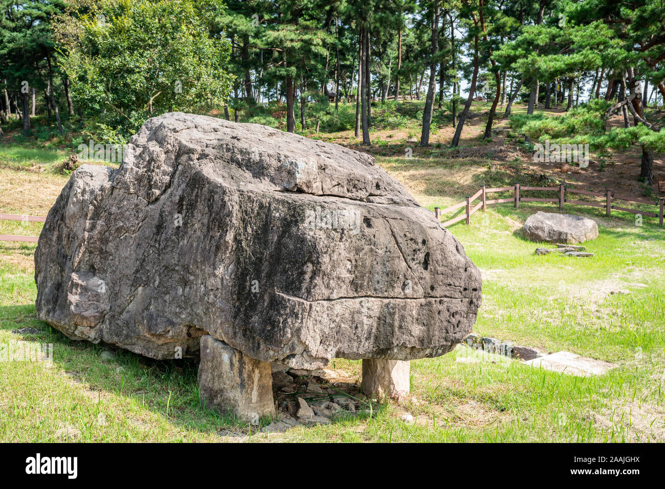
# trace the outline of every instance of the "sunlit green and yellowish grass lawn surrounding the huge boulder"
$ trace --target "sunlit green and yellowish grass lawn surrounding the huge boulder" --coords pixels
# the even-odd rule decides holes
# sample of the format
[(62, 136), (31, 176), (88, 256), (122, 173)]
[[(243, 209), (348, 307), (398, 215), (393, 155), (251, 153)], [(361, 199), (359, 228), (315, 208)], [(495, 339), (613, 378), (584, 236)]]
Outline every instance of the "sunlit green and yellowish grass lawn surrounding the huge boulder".
[[(404, 146), (408, 135), (400, 138), (395, 144)], [(378, 154), (377, 162), (430, 209), (460, 201), (481, 181), (509, 181), (511, 165), (517, 171), (520, 164), (454, 159), (443, 149), (404, 159), (399, 150)], [(0, 146), (0, 157), (18, 153)], [(0, 212), (45, 215), (67, 179), (0, 168)], [(412, 397), (401, 405), (379, 403), (328, 426), (272, 435), (203, 410), (195, 361), (152, 361), (74, 342), (37, 320), (35, 245), (0, 242), (0, 343), (53, 343), (53, 363), (0, 362), (0, 441), (665, 441), (665, 231), (651, 218), (638, 226), (632, 215), (608, 219), (600, 210), (567, 207), (599, 223), (600, 237), (587, 243), (595, 257), (535, 256), (538, 245), (516, 231), (541, 209), (555, 211), (502, 204), (479, 211), (469, 226), (450, 227), (483, 274), (474, 330), (616, 368), (574, 377), (460, 345), (411, 362)], [(5, 222), (0, 234), (36, 235), (39, 226)], [(35, 331), (13, 332), (19, 328)], [(102, 358), (104, 351), (112, 358)], [(336, 359), (331, 367), (360, 379), (359, 361)], [(401, 420), (405, 413), (414, 425)]]

